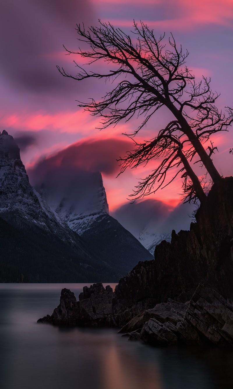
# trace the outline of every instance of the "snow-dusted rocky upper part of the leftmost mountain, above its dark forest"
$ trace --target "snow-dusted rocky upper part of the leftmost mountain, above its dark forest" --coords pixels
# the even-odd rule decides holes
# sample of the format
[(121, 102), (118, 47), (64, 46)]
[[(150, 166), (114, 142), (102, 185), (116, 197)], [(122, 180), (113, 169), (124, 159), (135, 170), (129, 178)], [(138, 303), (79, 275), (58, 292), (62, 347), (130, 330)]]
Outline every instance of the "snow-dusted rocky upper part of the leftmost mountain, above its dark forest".
[(19, 147), (5, 130), (0, 134), (0, 188), (0, 216), (3, 219), (9, 222), (14, 219), (14, 224), (18, 225), (33, 224), (63, 240), (73, 240), (66, 223), (31, 186)]

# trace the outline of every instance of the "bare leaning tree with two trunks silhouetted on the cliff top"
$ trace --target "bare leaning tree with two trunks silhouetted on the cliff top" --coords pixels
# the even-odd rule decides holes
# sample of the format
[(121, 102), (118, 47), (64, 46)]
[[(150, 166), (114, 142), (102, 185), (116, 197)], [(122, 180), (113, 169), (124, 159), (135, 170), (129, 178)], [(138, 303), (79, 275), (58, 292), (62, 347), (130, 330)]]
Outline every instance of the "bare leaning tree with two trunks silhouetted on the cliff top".
[[(166, 107), (174, 116), (167, 126), (155, 130), (155, 137), (144, 143), (137, 143), (136, 148), (121, 158), (121, 172), (127, 167), (136, 167), (151, 159), (158, 159), (158, 166), (151, 174), (139, 182), (134, 195), (141, 197), (168, 185), (177, 175), (183, 178), (186, 200), (201, 202), (205, 200), (203, 184), (198, 179), (190, 162), (200, 162), (208, 172), (210, 180), (221, 182), (221, 175), (212, 162), (216, 147), (203, 147), (210, 136), (219, 131), (228, 130), (233, 121), (233, 111), (226, 108), (226, 113), (217, 109), (216, 92), (210, 89), (210, 79), (202, 78), (196, 82), (195, 76), (186, 67), (188, 51), (177, 47), (173, 35), (165, 43), (165, 35), (155, 37), (154, 31), (141, 22), (134, 22), (132, 38), (110, 23), (101, 23), (99, 27), (77, 25), (78, 40), (86, 42), (89, 50), (70, 51), (88, 58), (91, 65), (104, 60), (114, 65), (108, 72), (87, 71), (77, 62), (78, 74), (71, 75), (64, 68), (57, 67), (65, 77), (77, 81), (87, 78), (112, 80), (112, 89), (101, 101), (79, 102), (92, 115), (102, 117), (102, 128), (116, 125), (122, 120), (129, 121), (133, 116), (141, 118), (138, 128), (132, 134), (125, 134), (134, 140), (136, 134), (161, 107)], [(151, 119), (151, 120), (150, 120)], [(154, 126), (155, 127), (155, 126)], [(208, 152), (207, 152), (208, 151)], [(176, 167), (176, 174), (167, 184), (167, 172)], [(155, 184), (157, 184), (156, 187)]]

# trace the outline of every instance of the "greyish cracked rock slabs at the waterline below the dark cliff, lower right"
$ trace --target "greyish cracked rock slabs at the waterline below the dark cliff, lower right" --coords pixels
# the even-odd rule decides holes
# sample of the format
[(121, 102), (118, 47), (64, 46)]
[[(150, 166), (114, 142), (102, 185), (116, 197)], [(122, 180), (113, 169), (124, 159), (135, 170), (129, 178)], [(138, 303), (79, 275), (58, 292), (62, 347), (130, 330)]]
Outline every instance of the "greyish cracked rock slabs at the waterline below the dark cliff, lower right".
[(157, 319), (149, 319), (141, 330), (140, 338), (144, 342), (233, 345), (233, 306), (211, 287), (199, 284), (185, 312), (184, 304), (177, 304), (174, 311), (166, 310), (166, 304), (163, 306), (169, 315), (161, 315), (161, 304), (156, 306)]

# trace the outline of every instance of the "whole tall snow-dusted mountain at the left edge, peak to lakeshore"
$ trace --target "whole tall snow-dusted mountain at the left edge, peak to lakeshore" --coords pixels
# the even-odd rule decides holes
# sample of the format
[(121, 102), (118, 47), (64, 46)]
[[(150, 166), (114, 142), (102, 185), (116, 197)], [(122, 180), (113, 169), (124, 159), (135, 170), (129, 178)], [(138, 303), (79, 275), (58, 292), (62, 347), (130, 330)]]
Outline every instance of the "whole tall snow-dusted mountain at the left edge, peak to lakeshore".
[(110, 268), (35, 191), (19, 147), (4, 130), (0, 134), (0, 254), (0, 273), (8, 268), (10, 274), (20, 273), (31, 282), (108, 282), (122, 274)]

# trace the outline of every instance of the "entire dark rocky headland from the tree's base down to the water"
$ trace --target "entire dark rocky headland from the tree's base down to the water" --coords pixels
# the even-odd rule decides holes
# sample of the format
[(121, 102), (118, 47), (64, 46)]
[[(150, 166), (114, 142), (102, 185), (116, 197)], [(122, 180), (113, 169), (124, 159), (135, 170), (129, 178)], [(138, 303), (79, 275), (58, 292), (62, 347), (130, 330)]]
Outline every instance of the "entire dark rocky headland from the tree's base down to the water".
[[(116, 326), (130, 340), (154, 345), (232, 346), (232, 195), (232, 177), (213, 185), (190, 231), (173, 231), (170, 243), (156, 246), (155, 260), (139, 262), (114, 294), (101, 284), (85, 287), (73, 308), (75, 323), (71, 314), (64, 324)], [(59, 317), (68, 317), (60, 305)]]

